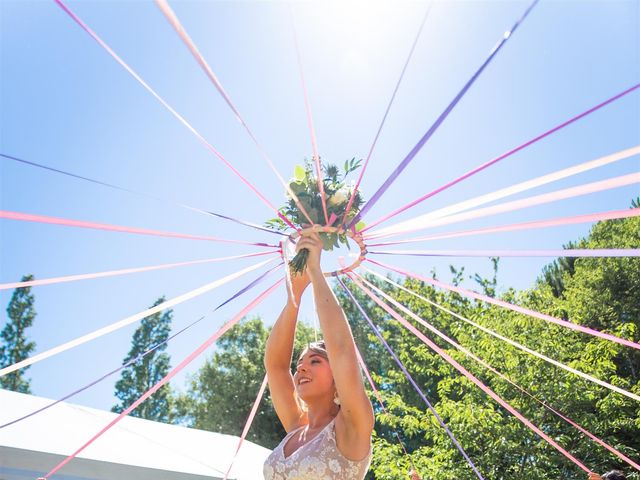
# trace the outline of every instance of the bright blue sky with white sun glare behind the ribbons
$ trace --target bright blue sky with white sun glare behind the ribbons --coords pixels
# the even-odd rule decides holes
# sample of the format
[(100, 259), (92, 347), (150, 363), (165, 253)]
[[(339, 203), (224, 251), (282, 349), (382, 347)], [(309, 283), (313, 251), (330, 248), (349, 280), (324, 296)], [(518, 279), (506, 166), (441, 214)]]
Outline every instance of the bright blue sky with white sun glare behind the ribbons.
[[(365, 198), (423, 135), (527, 3), (435, 4), (364, 178)], [(283, 201), (282, 187), (152, 2), (70, 6), (269, 199)], [(282, 175), (289, 177), (294, 165), (311, 155), (311, 146), (286, 4), (172, 6)], [(419, 2), (293, 5), (319, 149), (326, 161), (341, 164), (366, 155), (425, 8)], [(2, 153), (257, 223), (271, 218), (217, 158), (53, 1), (1, 0), (0, 15)], [(638, 2), (542, 0), (368, 218), (404, 205), (639, 81)], [(639, 112), (636, 92), (398, 219), (634, 146), (640, 143)], [(529, 194), (631, 173), (639, 166), (635, 157)], [(4, 210), (255, 241), (276, 238), (3, 159), (0, 172)], [(456, 229), (626, 208), (636, 195), (637, 186), (622, 188)], [(2, 282), (19, 280), (25, 273), (47, 278), (252, 251), (6, 220), (0, 228)], [(588, 228), (415, 248), (560, 248)], [(444, 278), (449, 263), (465, 265), (469, 273), (490, 270), (486, 259), (386, 260), (422, 273), (435, 267)], [(547, 261), (504, 259), (501, 288), (530, 286)], [(162, 294), (171, 298), (255, 262), (34, 288), (38, 317), (29, 333), (43, 351), (143, 310)], [(254, 276), (175, 308), (175, 329), (210, 311)], [(0, 292), (3, 308), (10, 294)], [(176, 339), (169, 347), (173, 364), (255, 294)], [(284, 298), (281, 289), (256, 312), (271, 322)], [(302, 316), (311, 318), (309, 306)], [(134, 328), (33, 366), (27, 373), (34, 393), (56, 398), (115, 368), (129, 349)], [(185, 373), (194, 372), (202, 360)], [(109, 408), (116, 379), (74, 401)], [(174, 386), (183, 388), (184, 383), (183, 374)]]

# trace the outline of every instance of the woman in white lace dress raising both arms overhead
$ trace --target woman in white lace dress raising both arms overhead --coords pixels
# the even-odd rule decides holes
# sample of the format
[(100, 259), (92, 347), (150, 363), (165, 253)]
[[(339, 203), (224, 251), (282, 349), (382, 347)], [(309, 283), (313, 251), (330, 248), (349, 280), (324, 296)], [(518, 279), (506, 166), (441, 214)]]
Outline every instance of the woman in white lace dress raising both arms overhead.
[[(288, 300), (264, 357), (273, 405), (287, 432), (264, 464), (265, 480), (362, 480), (371, 462), (374, 416), (351, 329), (322, 273), (322, 241), (304, 232), (307, 268), (291, 278)], [(309, 344), (291, 373), (298, 306), (313, 295), (324, 341)]]

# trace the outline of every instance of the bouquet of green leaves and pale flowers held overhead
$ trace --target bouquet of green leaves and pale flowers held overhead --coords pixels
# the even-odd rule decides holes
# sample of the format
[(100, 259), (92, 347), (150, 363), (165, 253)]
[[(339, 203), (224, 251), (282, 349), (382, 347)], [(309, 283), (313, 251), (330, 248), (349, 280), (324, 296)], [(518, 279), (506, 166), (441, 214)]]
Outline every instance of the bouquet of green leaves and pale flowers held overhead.
[[(341, 172), (335, 165), (322, 165), (322, 185), (324, 187), (327, 216), (329, 218), (328, 226), (343, 227), (343, 225), (334, 225), (336, 222), (342, 222), (347, 210), (349, 199), (353, 195), (355, 189), (355, 183), (347, 183), (347, 176), (360, 168), (362, 160), (346, 160), (344, 162), (344, 170)], [(322, 196), (320, 194), (318, 178), (316, 176), (316, 169), (310, 161), (306, 161), (303, 165), (296, 165), (294, 170), (294, 176), (289, 182), (289, 189), (296, 195), (300, 205), (306, 213), (309, 215), (313, 224), (324, 225), (324, 209), (322, 206)], [(347, 212), (344, 222), (348, 224), (355, 218), (360, 211), (363, 199), (359, 191), (355, 192), (353, 203), (351, 208)], [(280, 213), (286, 216), (291, 223), (296, 227), (305, 228), (309, 227), (309, 219), (298, 208), (297, 202), (294, 198), (291, 198), (287, 194), (287, 203), (280, 208)], [(284, 231), (287, 230), (287, 224), (279, 217), (273, 218), (265, 223), (266, 226)], [(346, 227), (345, 227), (346, 228)], [(356, 230), (364, 228), (364, 223), (359, 222), (356, 225)], [(347, 236), (344, 233), (334, 232), (320, 233), (324, 250), (333, 250), (340, 244), (344, 244), (349, 247)], [(295, 257), (289, 262), (289, 267), (292, 274), (298, 274), (304, 271), (307, 265), (307, 258), (309, 256), (309, 250), (302, 249), (296, 254)]]

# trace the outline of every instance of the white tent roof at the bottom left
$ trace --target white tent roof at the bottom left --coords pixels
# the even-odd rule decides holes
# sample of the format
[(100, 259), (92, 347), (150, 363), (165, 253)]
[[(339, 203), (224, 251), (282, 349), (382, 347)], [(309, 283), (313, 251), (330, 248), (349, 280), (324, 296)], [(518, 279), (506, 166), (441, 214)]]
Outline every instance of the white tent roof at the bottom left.
[[(0, 425), (52, 400), (0, 389)], [(35, 480), (83, 445), (116, 414), (58, 403), (0, 429), (0, 480)], [(238, 437), (125, 417), (52, 478), (57, 480), (222, 479)], [(229, 476), (262, 478), (270, 450), (244, 442)]]

